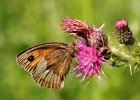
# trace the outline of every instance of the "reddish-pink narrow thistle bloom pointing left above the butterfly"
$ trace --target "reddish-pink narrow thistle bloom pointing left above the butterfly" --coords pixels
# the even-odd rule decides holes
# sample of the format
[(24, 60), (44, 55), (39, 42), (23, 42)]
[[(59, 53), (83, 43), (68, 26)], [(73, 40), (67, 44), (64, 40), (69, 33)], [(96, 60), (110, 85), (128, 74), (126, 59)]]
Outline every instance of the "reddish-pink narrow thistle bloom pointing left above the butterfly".
[(88, 33), (89, 26), (77, 19), (65, 18), (62, 20), (62, 29), (69, 33)]

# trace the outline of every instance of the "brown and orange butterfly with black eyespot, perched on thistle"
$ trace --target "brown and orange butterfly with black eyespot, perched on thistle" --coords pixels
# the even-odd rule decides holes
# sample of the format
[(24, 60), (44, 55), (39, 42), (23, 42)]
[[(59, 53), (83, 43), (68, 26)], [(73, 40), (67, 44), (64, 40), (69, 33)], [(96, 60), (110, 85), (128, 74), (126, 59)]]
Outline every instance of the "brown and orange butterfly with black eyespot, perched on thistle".
[(72, 44), (52, 42), (24, 50), (17, 55), (16, 61), (41, 86), (62, 89), (73, 57)]

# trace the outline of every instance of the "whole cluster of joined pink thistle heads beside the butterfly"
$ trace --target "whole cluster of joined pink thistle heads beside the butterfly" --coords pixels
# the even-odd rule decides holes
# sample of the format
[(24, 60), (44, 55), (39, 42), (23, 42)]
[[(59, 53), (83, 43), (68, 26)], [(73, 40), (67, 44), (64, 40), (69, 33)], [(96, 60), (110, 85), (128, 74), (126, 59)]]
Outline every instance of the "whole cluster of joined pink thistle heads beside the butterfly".
[(93, 75), (99, 77), (101, 65), (107, 58), (106, 54), (109, 54), (108, 49), (103, 49), (107, 47), (107, 37), (102, 32), (104, 25), (97, 29), (76, 19), (67, 18), (63, 19), (62, 22), (63, 30), (73, 36), (76, 35), (77, 67), (75, 73), (78, 74), (77, 77), (83, 76), (82, 80)]

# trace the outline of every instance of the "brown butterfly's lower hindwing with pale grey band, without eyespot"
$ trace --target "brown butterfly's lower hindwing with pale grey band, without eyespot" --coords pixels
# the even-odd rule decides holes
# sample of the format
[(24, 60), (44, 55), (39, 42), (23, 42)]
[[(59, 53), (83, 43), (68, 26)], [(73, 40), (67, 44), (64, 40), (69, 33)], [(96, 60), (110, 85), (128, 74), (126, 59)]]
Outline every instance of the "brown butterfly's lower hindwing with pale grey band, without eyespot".
[(58, 49), (47, 54), (40, 62), (32, 74), (34, 80), (41, 86), (54, 89), (62, 88), (72, 62), (71, 56), (65, 50)]

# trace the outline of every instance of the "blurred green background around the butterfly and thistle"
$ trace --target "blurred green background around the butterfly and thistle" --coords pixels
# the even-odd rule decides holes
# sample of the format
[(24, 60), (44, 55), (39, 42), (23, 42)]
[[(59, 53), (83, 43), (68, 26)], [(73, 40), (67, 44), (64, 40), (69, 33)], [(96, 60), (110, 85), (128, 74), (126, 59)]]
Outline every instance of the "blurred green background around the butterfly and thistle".
[(0, 0), (0, 100), (140, 100), (140, 72), (130, 75), (129, 68), (106, 68), (108, 79), (97, 77), (86, 83), (69, 74), (65, 88), (51, 90), (38, 86), (16, 63), (16, 55), (35, 44), (72, 41), (64, 33), (61, 19), (87, 21), (99, 27), (117, 43), (116, 19), (125, 18), (135, 37), (140, 39), (139, 0)]

